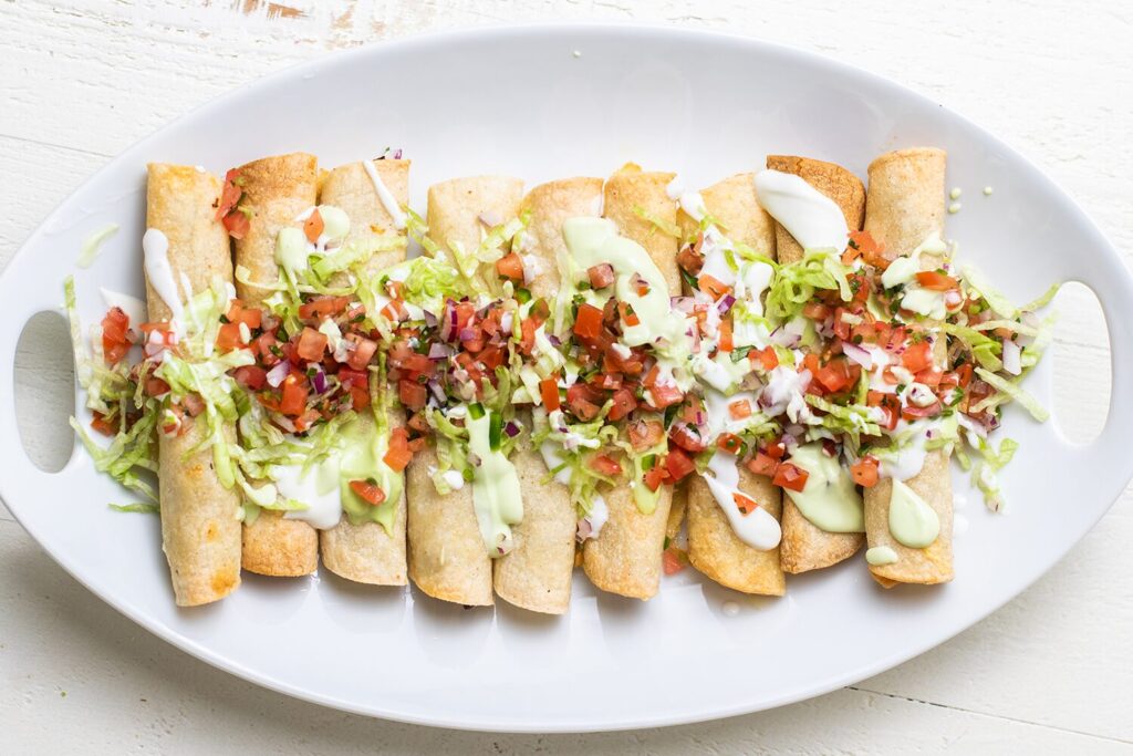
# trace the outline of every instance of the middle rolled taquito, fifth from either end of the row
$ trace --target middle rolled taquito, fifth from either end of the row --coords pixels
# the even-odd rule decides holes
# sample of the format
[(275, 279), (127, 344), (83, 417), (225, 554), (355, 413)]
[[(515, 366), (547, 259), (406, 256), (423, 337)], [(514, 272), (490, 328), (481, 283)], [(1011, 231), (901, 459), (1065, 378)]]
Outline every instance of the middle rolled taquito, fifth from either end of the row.
[[(559, 291), (559, 258), (566, 254), (563, 221), (597, 215), (600, 206), (599, 178), (551, 181), (527, 194), (521, 205), (528, 215), (522, 253), (525, 267), (534, 271), (527, 281), (533, 297), (550, 301)], [(512, 455), (512, 462), (523, 492), (523, 519), (512, 527), (512, 551), (495, 560), (495, 592), (509, 604), (562, 614), (570, 604), (578, 515), (568, 487), (546, 479), (547, 466), (538, 450), (525, 443)]]

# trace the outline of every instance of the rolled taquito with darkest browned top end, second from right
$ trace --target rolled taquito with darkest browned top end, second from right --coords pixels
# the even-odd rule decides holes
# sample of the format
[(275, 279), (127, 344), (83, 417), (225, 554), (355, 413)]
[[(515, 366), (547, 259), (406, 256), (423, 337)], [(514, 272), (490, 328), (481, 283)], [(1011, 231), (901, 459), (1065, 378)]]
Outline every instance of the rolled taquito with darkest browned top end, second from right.
[[(861, 230), (866, 215), (866, 187), (846, 169), (793, 155), (768, 155), (767, 168), (802, 178), (837, 204), (851, 231)], [(802, 260), (802, 245), (781, 223), (775, 223), (775, 238), (780, 263)], [(787, 572), (795, 575), (836, 564), (852, 557), (863, 543), (864, 533), (828, 533), (808, 520), (790, 495), (783, 496), (780, 561)]]

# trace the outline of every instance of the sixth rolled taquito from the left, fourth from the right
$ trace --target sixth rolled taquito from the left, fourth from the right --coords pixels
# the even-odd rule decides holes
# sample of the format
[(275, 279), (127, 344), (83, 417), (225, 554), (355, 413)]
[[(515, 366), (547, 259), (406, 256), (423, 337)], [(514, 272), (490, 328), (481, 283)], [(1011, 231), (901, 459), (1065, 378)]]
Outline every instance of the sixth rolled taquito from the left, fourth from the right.
[[(605, 186), (604, 215), (617, 224), (622, 236), (637, 241), (665, 277), (671, 295), (681, 291), (676, 265), (679, 240), (659, 224), (676, 226), (676, 201), (668, 196), (673, 173), (641, 171), (628, 165), (610, 177)], [(647, 220), (653, 219), (653, 220)], [(657, 507), (649, 515), (638, 509), (628, 485), (603, 494), (610, 519), (598, 537), (582, 551), (582, 570), (602, 591), (630, 598), (651, 598), (661, 585), (661, 552), (673, 500), (672, 486), (658, 490)]]

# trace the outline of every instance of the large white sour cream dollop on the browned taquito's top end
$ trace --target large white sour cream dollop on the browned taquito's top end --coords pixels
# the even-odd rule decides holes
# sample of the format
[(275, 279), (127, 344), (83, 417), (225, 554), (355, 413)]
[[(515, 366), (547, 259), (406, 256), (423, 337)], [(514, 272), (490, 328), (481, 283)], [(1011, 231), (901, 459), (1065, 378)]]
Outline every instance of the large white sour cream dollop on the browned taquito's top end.
[(755, 181), (759, 204), (803, 249), (845, 248), (850, 229), (833, 199), (793, 173), (759, 171)]

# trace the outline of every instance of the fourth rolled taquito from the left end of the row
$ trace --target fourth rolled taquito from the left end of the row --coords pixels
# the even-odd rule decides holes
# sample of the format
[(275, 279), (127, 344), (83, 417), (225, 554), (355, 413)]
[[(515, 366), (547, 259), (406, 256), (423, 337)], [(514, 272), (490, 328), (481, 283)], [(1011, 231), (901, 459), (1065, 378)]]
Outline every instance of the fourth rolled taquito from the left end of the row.
[[(429, 238), (446, 254), (457, 245), (472, 253), (487, 226), (516, 218), (522, 193), (521, 180), (500, 176), (436, 184), (428, 190)], [(426, 447), (407, 469), (409, 577), (434, 598), (488, 606), (492, 558), (476, 519), (472, 486), (437, 493), (436, 467), (436, 449)]]

